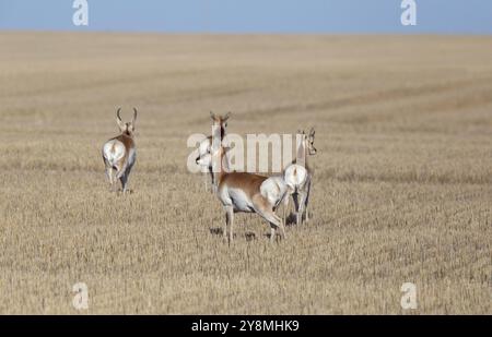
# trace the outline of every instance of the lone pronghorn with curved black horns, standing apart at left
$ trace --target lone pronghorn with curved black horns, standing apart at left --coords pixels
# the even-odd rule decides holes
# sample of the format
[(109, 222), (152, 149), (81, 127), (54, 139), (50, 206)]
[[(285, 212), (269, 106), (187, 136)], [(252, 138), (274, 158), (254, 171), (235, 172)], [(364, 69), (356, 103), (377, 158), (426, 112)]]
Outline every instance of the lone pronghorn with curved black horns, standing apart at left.
[(134, 121), (137, 120), (137, 109), (133, 108), (133, 119), (131, 122), (124, 123), (119, 112), (116, 111), (116, 122), (121, 134), (110, 139), (103, 146), (103, 159), (106, 166), (106, 174), (109, 179), (110, 188), (119, 179), (121, 182), (122, 193), (127, 192), (128, 177), (133, 167), (137, 153), (133, 141)]

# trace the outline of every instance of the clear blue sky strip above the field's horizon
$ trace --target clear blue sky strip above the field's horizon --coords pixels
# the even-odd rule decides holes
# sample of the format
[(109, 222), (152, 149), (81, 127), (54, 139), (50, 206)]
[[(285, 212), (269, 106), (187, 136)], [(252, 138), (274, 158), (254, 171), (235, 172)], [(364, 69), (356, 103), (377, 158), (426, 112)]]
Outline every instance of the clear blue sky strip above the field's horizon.
[(417, 26), (400, 23), (402, 0), (0, 0), (0, 29), (171, 33), (492, 34), (492, 0), (415, 0)]

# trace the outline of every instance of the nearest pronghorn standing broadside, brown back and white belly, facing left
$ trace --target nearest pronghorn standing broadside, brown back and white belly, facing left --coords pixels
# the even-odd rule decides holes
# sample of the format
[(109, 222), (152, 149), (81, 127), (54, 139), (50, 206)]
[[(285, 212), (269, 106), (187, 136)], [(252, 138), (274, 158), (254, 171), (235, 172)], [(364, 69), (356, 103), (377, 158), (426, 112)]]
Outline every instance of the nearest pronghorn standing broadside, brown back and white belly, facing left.
[[(220, 122), (220, 121), (219, 121)], [(220, 127), (220, 125), (215, 125)], [(286, 193), (286, 185), (281, 177), (263, 177), (248, 172), (229, 172), (226, 148), (220, 137), (221, 128), (214, 128), (211, 153), (197, 158), (199, 165), (211, 165), (216, 183), (216, 196), (225, 210), (223, 236), (229, 242), (234, 238), (234, 214), (256, 213), (270, 225), (270, 241), (276, 238), (280, 228), (285, 238), (283, 220), (277, 216), (276, 209)]]

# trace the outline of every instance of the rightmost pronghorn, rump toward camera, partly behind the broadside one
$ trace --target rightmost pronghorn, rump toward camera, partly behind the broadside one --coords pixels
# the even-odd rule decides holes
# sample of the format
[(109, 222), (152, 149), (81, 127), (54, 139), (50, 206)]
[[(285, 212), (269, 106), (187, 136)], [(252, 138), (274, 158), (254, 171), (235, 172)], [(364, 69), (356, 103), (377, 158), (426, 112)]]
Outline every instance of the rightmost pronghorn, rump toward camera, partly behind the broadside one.
[[(289, 193), (294, 200), (294, 206), (296, 212), (296, 222), (301, 225), (303, 221), (303, 214), (305, 212), (305, 221), (309, 221), (309, 215), (307, 210), (307, 203), (309, 201), (311, 183), (313, 179), (313, 169), (307, 164), (308, 156), (316, 155), (316, 147), (314, 147), (315, 130), (311, 129), (309, 134), (304, 131), (298, 132), (301, 134), (301, 144), (297, 148), (296, 159), (285, 168), (284, 181), (290, 186)], [(284, 214), (289, 206), (290, 197), (284, 200)]]

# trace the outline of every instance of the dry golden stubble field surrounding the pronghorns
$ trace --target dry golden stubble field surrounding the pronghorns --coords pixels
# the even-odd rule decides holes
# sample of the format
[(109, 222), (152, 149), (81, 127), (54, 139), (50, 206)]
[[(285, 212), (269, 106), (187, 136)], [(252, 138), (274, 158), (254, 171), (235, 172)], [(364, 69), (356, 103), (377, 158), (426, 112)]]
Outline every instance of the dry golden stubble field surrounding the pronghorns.
[[(0, 34), (0, 312), (492, 313), (490, 37)], [(488, 47), (489, 46), (489, 47)], [(130, 188), (99, 151), (140, 109)], [(270, 245), (186, 140), (317, 128), (313, 220)], [(248, 239), (255, 234), (254, 239)]]

